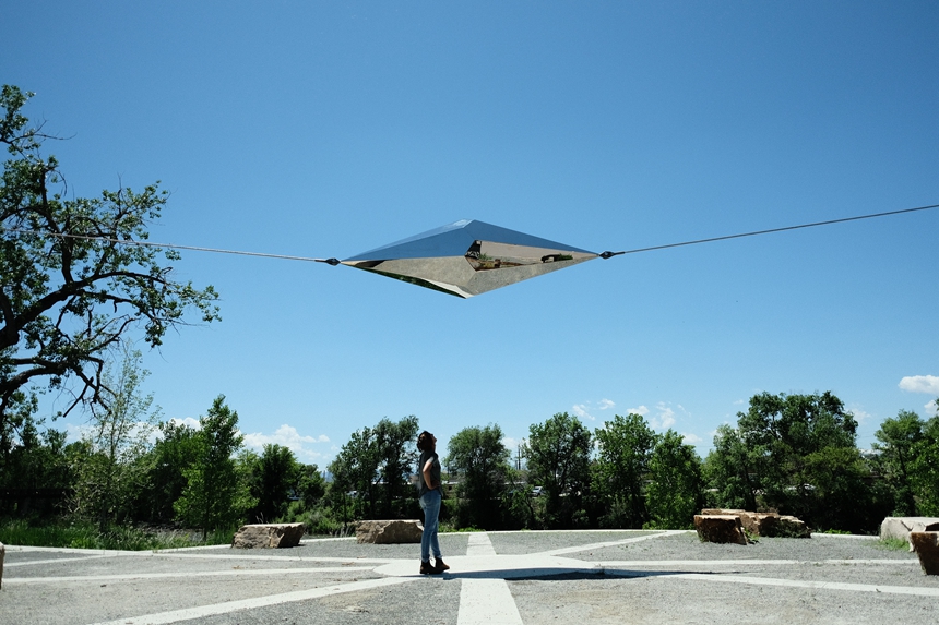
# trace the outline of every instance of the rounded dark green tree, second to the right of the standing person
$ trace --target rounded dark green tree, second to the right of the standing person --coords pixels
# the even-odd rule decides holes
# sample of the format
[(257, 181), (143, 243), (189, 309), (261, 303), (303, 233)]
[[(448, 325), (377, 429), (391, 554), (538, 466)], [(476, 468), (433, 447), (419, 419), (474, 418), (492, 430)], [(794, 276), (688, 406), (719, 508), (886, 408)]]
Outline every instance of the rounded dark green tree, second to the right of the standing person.
[(586, 526), (583, 498), (590, 486), (590, 430), (577, 417), (559, 412), (528, 428), (524, 455), (528, 481), (545, 490), (544, 525)]

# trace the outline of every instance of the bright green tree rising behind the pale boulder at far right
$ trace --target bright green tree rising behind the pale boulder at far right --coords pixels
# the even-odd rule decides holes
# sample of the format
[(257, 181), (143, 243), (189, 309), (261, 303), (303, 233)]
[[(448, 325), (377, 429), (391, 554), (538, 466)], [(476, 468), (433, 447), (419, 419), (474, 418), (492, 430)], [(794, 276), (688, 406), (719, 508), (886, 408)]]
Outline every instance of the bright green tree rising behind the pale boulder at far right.
[(901, 410), (895, 419), (884, 419), (873, 434), (879, 452), (876, 465), (890, 485), (894, 497), (896, 516), (917, 516), (913, 486), (914, 447), (923, 438), (924, 422), (919, 416)]

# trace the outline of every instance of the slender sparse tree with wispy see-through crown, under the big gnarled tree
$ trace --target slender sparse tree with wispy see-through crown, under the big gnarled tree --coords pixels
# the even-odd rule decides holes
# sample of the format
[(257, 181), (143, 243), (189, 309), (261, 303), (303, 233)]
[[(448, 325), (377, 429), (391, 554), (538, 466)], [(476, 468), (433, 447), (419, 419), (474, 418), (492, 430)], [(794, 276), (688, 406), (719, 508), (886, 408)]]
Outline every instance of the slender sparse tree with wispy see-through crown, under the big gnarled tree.
[(102, 389), (109, 395), (107, 407), (92, 405), (90, 430), (83, 436), (91, 454), (75, 469), (73, 512), (95, 519), (102, 532), (112, 520), (132, 514), (144, 488), (146, 467), (141, 459), (151, 446), (158, 409), (152, 409), (152, 395), (141, 395), (148, 375), (141, 359), (140, 351), (124, 346), (119, 371), (106, 366)]

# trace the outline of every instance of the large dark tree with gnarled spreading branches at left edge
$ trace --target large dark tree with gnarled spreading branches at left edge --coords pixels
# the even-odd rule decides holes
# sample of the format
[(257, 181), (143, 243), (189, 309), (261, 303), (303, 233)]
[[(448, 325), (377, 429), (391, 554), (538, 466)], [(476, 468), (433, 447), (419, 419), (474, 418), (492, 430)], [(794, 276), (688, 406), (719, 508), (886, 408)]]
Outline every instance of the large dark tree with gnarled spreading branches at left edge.
[(116, 396), (103, 377), (108, 351), (134, 328), (155, 347), (191, 309), (219, 318), (214, 289), (175, 281), (179, 254), (146, 244), (167, 192), (157, 183), (66, 199), (58, 161), (41, 153), (49, 135), (21, 113), (32, 96), (0, 91), (0, 143), (12, 155), (0, 182), (0, 440), (39, 381), (72, 393), (63, 413), (106, 409)]

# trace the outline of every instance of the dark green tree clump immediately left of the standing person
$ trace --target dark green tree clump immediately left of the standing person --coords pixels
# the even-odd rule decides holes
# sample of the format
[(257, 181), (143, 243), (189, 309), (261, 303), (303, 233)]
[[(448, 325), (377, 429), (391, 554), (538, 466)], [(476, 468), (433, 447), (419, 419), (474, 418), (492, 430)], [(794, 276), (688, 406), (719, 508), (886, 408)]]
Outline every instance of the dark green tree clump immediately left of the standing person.
[(333, 483), (329, 498), (333, 507), (342, 510), (344, 522), (411, 516), (401, 500), (405, 493), (413, 494), (408, 491), (408, 476), (417, 462), (416, 437), (414, 416), (397, 423), (385, 418), (375, 428), (353, 432), (330, 464)]

